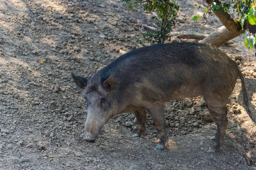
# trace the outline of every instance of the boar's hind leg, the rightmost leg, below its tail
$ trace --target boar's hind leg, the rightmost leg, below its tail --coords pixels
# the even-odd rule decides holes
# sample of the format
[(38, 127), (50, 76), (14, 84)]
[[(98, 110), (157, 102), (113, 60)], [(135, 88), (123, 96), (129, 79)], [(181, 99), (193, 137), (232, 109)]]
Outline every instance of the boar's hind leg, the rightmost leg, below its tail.
[(225, 106), (208, 105), (208, 108), (214, 121), (217, 124), (217, 133), (216, 133), (216, 141), (214, 144), (214, 148), (208, 150), (208, 153), (215, 153), (215, 151), (221, 148), (225, 131), (227, 129), (228, 120), (227, 120), (226, 104)]

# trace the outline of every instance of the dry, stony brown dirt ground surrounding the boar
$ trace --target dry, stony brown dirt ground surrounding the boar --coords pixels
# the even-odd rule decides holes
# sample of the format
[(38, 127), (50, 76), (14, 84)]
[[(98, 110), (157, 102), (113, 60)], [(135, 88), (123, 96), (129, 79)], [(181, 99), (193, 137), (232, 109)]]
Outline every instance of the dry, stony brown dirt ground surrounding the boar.
[[(214, 15), (206, 24), (192, 21), (202, 16), (199, 0), (177, 2), (174, 31), (209, 34), (221, 26)], [(119, 0), (0, 0), (0, 170), (255, 170), (256, 125), (242, 107), (240, 79), (218, 153), (206, 152), (216, 125), (200, 97), (165, 104), (165, 150), (154, 149), (150, 117), (147, 136), (131, 138), (138, 128), (133, 113), (111, 119), (95, 143), (83, 141), (86, 105), (70, 73), (91, 77), (140, 47), (132, 37), (154, 22), (154, 14), (128, 12)], [(221, 50), (240, 66), (256, 118), (255, 50), (244, 48), (241, 36), (233, 42)]]

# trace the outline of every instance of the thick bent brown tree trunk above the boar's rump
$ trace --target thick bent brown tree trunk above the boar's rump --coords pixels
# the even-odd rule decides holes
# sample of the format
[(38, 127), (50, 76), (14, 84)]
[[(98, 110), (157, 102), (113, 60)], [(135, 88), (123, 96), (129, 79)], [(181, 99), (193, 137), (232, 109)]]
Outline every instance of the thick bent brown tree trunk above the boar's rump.
[[(220, 3), (219, 0), (206, 0), (209, 5), (212, 4), (213, 1)], [(216, 47), (220, 47), (225, 42), (232, 40), (247, 30), (246, 22), (244, 22), (244, 29), (242, 29), (240, 21), (234, 20), (227, 12), (216, 11), (214, 14), (224, 26), (219, 27), (217, 30), (209, 34), (209, 36), (204, 38), (204, 40), (200, 41), (201, 43), (209, 43)]]

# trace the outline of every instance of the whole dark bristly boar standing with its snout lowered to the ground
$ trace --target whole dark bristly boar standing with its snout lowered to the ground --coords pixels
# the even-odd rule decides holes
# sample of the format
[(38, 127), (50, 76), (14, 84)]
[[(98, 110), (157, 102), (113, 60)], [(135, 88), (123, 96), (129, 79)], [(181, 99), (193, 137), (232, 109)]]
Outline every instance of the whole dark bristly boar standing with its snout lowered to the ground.
[(203, 96), (218, 128), (215, 147), (209, 150), (215, 152), (221, 148), (227, 128), (226, 105), (238, 77), (245, 109), (252, 119), (239, 67), (212, 45), (189, 42), (151, 45), (120, 56), (88, 80), (72, 76), (79, 87), (84, 84), (88, 104), (84, 137), (87, 141), (95, 140), (108, 119), (131, 111), (139, 122), (135, 136), (141, 136), (145, 134), (148, 111), (160, 135), (156, 149), (163, 149), (168, 144), (163, 103)]

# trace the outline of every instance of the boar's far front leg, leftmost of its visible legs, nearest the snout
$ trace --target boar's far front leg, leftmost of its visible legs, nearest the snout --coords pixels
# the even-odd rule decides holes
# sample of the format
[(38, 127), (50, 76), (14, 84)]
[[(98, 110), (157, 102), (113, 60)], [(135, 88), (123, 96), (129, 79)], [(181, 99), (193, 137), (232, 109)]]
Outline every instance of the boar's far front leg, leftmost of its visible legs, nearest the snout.
[(139, 130), (132, 137), (140, 137), (146, 135), (146, 111), (145, 108), (141, 108), (138, 111), (134, 111), (136, 119), (139, 123)]

